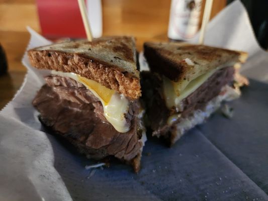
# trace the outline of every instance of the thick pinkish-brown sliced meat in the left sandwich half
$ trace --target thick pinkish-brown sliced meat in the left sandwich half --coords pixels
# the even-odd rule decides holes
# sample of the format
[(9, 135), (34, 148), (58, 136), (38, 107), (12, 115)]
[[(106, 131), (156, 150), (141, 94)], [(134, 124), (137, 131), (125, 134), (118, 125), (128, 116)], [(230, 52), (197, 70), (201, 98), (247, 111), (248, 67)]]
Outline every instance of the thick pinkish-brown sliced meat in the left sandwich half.
[[(119, 133), (104, 117), (99, 99), (82, 84), (67, 77), (48, 76), (44, 86), (33, 100), (41, 114), (41, 121), (60, 136), (66, 138), (81, 153), (93, 159), (107, 156), (130, 162), (139, 167), (140, 120), (137, 115), (139, 102), (132, 101), (129, 113), (130, 131)], [(137, 171), (137, 169), (136, 169)]]

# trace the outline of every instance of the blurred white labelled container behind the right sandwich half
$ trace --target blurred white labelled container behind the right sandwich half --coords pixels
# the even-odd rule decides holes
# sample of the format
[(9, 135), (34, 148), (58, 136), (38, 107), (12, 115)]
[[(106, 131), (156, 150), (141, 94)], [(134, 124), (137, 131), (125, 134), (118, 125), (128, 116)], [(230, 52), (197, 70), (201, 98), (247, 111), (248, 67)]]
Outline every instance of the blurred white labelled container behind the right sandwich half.
[(172, 0), (168, 25), (168, 38), (189, 40), (199, 27), (202, 0)]

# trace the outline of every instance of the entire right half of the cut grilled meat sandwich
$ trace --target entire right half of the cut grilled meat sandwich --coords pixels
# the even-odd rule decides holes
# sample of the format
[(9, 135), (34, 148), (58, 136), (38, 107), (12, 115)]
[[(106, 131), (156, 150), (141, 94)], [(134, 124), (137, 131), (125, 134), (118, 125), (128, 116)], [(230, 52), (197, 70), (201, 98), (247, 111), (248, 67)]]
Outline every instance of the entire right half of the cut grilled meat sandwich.
[(144, 44), (150, 72), (142, 72), (143, 99), (153, 135), (170, 145), (203, 123), (248, 84), (238, 71), (247, 53), (186, 43)]

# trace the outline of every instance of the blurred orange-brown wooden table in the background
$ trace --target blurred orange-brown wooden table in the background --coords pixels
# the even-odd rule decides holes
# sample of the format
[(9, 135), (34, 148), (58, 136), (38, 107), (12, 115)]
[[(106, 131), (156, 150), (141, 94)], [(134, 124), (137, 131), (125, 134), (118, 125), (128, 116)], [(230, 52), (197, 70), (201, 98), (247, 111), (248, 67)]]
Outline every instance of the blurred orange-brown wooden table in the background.
[[(167, 40), (170, 0), (103, 0), (102, 3), (104, 35), (134, 35), (139, 51), (146, 40)], [(211, 18), (225, 4), (226, 0), (214, 0)], [(20, 88), (26, 73), (21, 63), (30, 37), (26, 26), (40, 32), (35, 1), (0, 0), (0, 43), (9, 63), (8, 74), (0, 76), (0, 109)]]

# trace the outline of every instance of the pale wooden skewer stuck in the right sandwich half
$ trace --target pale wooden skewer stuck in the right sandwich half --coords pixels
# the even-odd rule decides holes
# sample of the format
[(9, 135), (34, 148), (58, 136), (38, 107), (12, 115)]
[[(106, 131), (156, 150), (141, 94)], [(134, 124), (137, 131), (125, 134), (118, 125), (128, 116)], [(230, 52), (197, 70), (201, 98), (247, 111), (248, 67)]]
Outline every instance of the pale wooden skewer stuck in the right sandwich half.
[(202, 20), (202, 25), (200, 29), (200, 35), (199, 35), (199, 44), (204, 43), (205, 31), (206, 31), (207, 24), (209, 22), (212, 4), (213, 4), (213, 0), (206, 0), (203, 20)]

